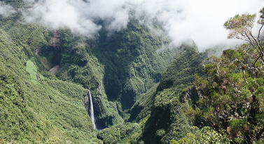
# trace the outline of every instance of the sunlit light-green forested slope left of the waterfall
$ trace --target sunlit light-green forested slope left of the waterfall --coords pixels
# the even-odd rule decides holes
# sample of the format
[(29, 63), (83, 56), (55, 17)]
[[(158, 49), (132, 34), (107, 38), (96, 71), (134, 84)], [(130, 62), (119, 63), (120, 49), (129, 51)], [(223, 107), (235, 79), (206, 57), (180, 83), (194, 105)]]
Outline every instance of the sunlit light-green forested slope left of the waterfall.
[(54, 76), (40, 75), (36, 82), (36, 72), (48, 75), (41, 68), (40, 55), (34, 54), (36, 48), (48, 44), (48, 32), (39, 25), (1, 20), (0, 39), (0, 139), (102, 143), (83, 107), (86, 90), (82, 86)]

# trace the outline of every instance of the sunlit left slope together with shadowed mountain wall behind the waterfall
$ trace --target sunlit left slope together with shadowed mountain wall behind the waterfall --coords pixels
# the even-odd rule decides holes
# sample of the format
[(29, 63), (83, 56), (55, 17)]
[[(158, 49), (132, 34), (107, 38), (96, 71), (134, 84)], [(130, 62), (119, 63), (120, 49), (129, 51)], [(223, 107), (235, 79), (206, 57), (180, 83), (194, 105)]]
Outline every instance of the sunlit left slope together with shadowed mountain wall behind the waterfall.
[[(14, 8), (20, 2), (6, 1)], [(175, 53), (158, 24), (160, 34), (132, 19), (112, 37), (103, 29), (98, 41), (62, 29), (55, 32), (60, 45), (53, 46), (54, 32), (21, 21), (19, 11), (1, 17), (1, 141), (102, 143), (83, 107), (87, 89), (99, 129), (123, 124)], [(160, 47), (165, 50), (157, 52)], [(56, 75), (47, 72), (56, 65)]]

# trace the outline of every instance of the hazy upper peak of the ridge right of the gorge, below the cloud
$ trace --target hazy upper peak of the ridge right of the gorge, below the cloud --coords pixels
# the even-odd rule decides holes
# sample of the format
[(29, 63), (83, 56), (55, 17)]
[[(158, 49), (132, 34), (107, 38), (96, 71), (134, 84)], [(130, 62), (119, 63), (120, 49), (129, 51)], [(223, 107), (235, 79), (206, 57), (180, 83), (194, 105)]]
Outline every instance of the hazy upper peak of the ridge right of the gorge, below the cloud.
[(162, 74), (158, 91), (177, 87), (179, 92), (190, 86), (194, 79), (193, 74), (202, 74), (202, 60), (206, 58), (205, 53), (198, 53), (197, 46), (193, 41), (192, 45), (183, 44), (179, 47), (172, 63)]

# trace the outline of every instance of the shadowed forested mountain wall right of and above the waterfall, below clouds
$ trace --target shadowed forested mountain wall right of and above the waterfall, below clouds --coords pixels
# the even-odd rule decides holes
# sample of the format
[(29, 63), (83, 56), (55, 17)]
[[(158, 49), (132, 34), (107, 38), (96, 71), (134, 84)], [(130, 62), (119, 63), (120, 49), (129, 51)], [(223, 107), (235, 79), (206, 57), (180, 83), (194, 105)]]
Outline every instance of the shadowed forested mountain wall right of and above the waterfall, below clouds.
[[(130, 107), (158, 83), (174, 54), (164, 33), (155, 34), (134, 19), (111, 37), (102, 29), (99, 41), (69, 30), (60, 34), (63, 53), (56, 77), (95, 91), (95, 116), (102, 128), (129, 118)], [(160, 47), (165, 50), (158, 51)]]

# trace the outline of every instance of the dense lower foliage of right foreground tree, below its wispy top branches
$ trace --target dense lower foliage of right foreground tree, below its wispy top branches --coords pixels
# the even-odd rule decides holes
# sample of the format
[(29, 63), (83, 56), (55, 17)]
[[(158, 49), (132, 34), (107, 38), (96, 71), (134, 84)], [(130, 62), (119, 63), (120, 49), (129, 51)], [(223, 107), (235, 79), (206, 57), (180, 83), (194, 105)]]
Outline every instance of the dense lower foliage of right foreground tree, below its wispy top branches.
[(251, 60), (256, 49), (247, 50), (246, 46), (228, 49), (221, 58), (209, 58), (211, 63), (204, 70), (207, 79), (195, 74), (200, 91), (200, 109), (196, 110), (203, 110), (203, 117), (216, 131), (225, 130), (232, 140), (253, 143), (263, 138), (264, 132), (264, 73), (260, 71), (263, 64), (256, 66)]

